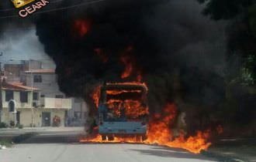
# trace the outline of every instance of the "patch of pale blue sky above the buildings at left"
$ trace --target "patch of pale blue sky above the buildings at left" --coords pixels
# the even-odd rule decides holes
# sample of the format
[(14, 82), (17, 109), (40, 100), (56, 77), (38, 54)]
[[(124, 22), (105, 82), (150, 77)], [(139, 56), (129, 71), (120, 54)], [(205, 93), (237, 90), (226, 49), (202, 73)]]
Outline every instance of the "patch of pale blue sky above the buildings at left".
[(26, 29), (5, 28), (0, 37), (0, 60), (15, 63), (17, 60), (35, 59), (43, 62), (43, 68), (55, 68), (54, 62), (44, 52), (43, 45), (36, 36), (34, 26)]

